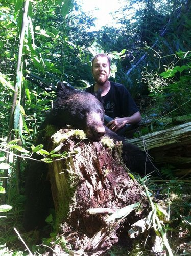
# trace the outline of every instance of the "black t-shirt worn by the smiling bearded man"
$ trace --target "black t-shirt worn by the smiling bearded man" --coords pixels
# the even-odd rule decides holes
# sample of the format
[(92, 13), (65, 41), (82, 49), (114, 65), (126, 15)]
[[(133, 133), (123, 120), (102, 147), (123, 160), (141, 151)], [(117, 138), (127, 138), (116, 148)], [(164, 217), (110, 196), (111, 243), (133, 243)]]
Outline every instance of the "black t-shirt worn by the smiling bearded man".
[[(119, 83), (110, 81), (109, 92), (102, 97), (107, 116), (128, 117), (139, 111), (128, 90)], [(94, 94), (94, 86), (88, 87), (86, 92)]]

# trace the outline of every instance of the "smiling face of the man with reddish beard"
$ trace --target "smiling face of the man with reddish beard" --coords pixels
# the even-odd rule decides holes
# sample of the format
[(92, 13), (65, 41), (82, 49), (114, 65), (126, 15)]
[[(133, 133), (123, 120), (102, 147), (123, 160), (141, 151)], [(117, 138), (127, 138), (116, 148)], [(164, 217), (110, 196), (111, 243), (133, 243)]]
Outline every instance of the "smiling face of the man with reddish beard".
[(92, 74), (97, 84), (103, 86), (110, 76), (110, 65), (107, 57), (98, 57), (92, 63)]

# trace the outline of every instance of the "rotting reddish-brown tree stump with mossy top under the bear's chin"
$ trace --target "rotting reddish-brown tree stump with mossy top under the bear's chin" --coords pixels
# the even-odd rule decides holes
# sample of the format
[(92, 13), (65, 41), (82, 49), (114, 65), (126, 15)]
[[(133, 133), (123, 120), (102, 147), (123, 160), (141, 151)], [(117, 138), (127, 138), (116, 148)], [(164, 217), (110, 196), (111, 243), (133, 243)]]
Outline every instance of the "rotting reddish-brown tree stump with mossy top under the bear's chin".
[[(66, 158), (49, 165), (57, 224), (73, 249), (99, 255), (118, 241), (117, 229), (129, 211), (125, 207), (134, 204), (131, 212), (135, 203), (146, 205), (147, 199), (122, 163), (121, 142), (90, 142), (75, 136), (64, 140), (65, 132), (54, 135), (57, 143), (51, 148), (61, 144)], [(121, 208), (125, 213), (117, 212)], [(114, 212), (120, 216), (109, 217)], [(139, 214), (132, 211), (126, 218), (129, 227)]]

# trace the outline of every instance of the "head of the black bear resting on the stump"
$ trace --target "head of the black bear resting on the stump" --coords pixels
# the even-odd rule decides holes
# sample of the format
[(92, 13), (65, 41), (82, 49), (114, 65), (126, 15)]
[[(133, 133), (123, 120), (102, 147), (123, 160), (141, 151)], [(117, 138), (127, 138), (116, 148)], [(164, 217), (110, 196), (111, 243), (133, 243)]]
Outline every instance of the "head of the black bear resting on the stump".
[(56, 95), (51, 112), (53, 124), (58, 128), (71, 125), (74, 129), (82, 129), (89, 139), (100, 140), (105, 134), (104, 108), (97, 99), (101, 99), (100, 93), (96, 97), (58, 82)]

